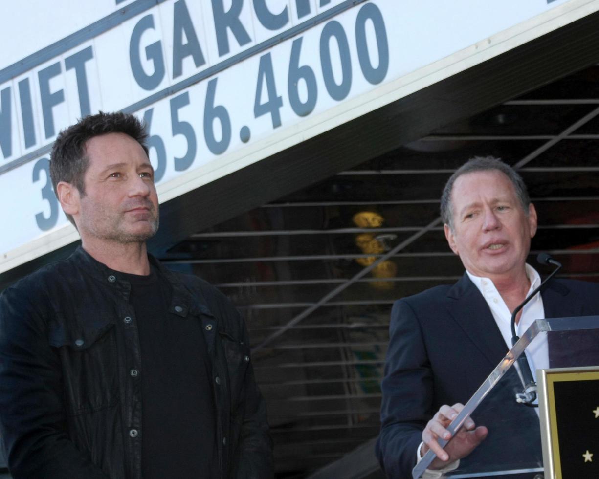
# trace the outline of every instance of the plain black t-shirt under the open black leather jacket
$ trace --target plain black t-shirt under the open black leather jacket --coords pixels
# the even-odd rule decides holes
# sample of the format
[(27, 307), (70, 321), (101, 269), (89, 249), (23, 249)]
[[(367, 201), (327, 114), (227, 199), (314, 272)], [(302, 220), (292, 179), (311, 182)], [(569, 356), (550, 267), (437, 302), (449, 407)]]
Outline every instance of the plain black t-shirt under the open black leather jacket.
[(216, 477), (216, 412), (201, 323), (168, 312), (171, 286), (154, 268), (149, 276), (123, 276), (141, 347), (141, 475)]

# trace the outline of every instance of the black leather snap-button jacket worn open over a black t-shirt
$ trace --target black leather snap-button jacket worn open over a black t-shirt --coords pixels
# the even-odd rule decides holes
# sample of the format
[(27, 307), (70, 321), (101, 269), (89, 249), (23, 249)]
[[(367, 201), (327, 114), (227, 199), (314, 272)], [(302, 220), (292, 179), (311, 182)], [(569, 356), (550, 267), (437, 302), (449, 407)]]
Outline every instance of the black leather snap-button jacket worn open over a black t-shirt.
[[(173, 287), (165, 314), (203, 326), (219, 477), (272, 477), (243, 319), (205, 281), (150, 261)], [(143, 371), (129, 291), (79, 247), (0, 296), (0, 432), (15, 479), (141, 478), (143, 398), (131, 370)]]

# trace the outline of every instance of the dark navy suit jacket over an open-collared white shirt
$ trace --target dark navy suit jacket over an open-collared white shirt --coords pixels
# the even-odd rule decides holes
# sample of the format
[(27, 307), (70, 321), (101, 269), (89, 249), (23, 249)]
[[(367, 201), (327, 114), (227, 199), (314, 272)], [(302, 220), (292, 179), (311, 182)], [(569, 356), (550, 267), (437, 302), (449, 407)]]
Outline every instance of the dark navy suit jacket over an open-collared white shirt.
[[(541, 295), (547, 318), (599, 314), (599, 284), (550, 280)], [(443, 404), (465, 404), (505, 356), (507, 346), (485, 299), (465, 273), (453, 286), (396, 301), (389, 336), (376, 453), (389, 478), (407, 479), (426, 423)], [(507, 466), (516, 457), (541, 457), (539, 419), (533, 408), (515, 402), (518, 386), (510, 368), (489, 401), (474, 411), (474, 421), (487, 426), (489, 435), (484, 448), (462, 459), (461, 466), (481, 461)]]

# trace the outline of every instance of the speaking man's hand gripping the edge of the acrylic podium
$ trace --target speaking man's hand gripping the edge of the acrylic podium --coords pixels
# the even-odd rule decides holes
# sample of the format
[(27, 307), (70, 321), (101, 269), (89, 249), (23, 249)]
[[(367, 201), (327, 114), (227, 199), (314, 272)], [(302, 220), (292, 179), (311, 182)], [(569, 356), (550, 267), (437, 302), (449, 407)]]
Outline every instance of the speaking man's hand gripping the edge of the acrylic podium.
[[(456, 403), (453, 406), (443, 405), (432, 419), (426, 424), (422, 431), (422, 447), (420, 454), (424, 456), (429, 449), (432, 449), (437, 457), (429, 466), (430, 469), (442, 469), (449, 463), (468, 456), (474, 448), (486, 438), (489, 432), (485, 426), (479, 426), (475, 429), (474, 421), (467, 417), (464, 425), (451, 438), (447, 426), (458, 416), (464, 408), (463, 404)], [(437, 439), (450, 439), (445, 449), (439, 445)]]

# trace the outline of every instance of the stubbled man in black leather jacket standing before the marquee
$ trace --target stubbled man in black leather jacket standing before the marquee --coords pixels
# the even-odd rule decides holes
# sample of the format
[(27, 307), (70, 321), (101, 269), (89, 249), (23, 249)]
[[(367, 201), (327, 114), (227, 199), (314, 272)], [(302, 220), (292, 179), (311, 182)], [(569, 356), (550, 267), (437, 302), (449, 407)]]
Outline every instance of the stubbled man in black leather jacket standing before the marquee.
[(19, 478), (272, 477), (243, 319), (150, 256), (158, 197), (141, 123), (86, 117), (50, 171), (81, 235), (0, 298), (0, 428)]

